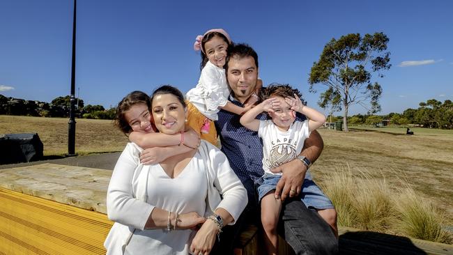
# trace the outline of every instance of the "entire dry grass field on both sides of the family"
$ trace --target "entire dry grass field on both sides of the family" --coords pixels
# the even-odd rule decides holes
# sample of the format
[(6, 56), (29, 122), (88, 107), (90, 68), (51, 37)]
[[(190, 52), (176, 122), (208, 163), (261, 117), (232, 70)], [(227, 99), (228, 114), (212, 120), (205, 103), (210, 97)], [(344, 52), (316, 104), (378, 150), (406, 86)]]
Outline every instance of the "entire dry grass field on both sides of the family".
[[(112, 121), (77, 119), (76, 153), (123, 150), (128, 139)], [(417, 194), (446, 212), (453, 224), (453, 130), (397, 127), (352, 127), (351, 131), (318, 130), (325, 148), (312, 167), (316, 181), (323, 182), (333, 170), (348, 166), (357, 176), (367, 172), (383, 178), (390, 187), (407, 182)], [(68, 119), (0, 116), (0, 134), (38, 132), (47, 157), (68, 151)], [(395, 194), (399, 195), (399, 194)]]

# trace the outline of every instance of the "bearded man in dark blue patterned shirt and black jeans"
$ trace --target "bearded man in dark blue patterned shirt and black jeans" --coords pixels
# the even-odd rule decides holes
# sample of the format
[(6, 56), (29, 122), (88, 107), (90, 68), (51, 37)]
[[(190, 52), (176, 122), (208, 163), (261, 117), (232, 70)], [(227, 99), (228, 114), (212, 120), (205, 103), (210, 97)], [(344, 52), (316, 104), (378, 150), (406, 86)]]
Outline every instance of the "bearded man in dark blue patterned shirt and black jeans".
[[(225, 72), (231, 88), (229, 100), (244, 107), (247, 99), (254, 94), (258, 79), (258, 56), (248, 45), (234, 45), (229, 49)], [(234, 241), (245, 224), (257, 223), (259, 204), (254, 181), (263, 176), (263, 144), (257, 132), (240, 125), (240, 116), (221, 110), (215, 122), (220, 135), (222, 151), (227, 155), (231, 168), (247, 189), (249, 204), (233, 229), (225, 229), (228, 241)], [(261, 114), (257, 118), (266, 118)], [(284, 201), (280, 215), (279, 229), (295, 254), (336, 254), (338, 241), (330, 226), (319, 217), (316, 210), (309, 210), (300, 200), (300, 191), (311, 162), (321, 154), (323, 141), (313, 131), (298, 159), (282, 164), (273, 171), (282, 172), (282, 178), (275, 190), (276, 199)], [(309, 176), (309, 174), (307, 174)], [(221, 241), (220, 246), (224, 247)], [(227, 245), (228, 246), (228, 245)], [(231, 247), (220, 249), (222, 252)], [(216, 251), (215, 254), (218, 252)]]

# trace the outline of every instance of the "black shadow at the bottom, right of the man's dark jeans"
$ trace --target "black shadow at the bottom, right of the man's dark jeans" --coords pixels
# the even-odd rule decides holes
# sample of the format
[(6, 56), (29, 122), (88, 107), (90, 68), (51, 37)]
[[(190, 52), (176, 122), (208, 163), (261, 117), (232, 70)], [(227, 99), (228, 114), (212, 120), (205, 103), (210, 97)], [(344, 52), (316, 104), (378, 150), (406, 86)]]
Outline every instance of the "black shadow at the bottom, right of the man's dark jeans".
[(410, 238), (372, 231), (354, 231), (340, 235), (339, 251), (340, 254), (427, 254), (414, 245)]

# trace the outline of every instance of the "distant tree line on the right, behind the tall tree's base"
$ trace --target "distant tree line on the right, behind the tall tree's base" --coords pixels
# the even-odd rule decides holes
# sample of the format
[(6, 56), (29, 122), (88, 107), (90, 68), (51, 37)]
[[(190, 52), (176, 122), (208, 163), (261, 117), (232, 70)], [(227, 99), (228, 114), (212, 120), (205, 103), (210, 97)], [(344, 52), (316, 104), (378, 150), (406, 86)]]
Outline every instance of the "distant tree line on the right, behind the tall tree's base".
[[(332, 122), (341, 121), (341, 118), (343, 116), (333, 117)], [(408, 126), (410, 124), (451, 130), (453, 129), (453, 102), (430, 99), (427, 102), (420, 102), (417, 109), (409, 108), (401, 114), (394, 112), (386, 115), (356, 114), (348, 117), (348, 123), (351, 125), (376, 125), (383, 122), (390, 125)]]

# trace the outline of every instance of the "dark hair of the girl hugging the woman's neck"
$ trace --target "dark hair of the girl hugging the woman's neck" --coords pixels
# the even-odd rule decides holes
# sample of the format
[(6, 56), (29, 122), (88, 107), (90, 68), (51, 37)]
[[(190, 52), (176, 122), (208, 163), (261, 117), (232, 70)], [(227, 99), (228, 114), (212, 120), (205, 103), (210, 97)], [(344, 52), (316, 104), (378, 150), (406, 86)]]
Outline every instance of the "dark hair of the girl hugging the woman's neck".
[(114, 118), (114, 125), (118, 127), (121, 132), (124, 134), (129, 134), (132, 132), (132, 127), (130, 127), (128, 121), (125, 118), (125, 112), (129, 111), (132, 105), (145, 104), (148, 109), (151, 109), (151, 98), (149, 98), (146, 93), (141, 91), (132, 91), (126, 95), (123, 100), (118, 102), (116, 107), (116, 115)]

